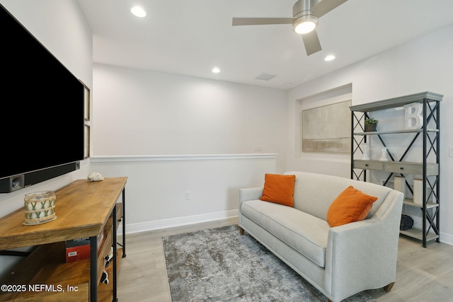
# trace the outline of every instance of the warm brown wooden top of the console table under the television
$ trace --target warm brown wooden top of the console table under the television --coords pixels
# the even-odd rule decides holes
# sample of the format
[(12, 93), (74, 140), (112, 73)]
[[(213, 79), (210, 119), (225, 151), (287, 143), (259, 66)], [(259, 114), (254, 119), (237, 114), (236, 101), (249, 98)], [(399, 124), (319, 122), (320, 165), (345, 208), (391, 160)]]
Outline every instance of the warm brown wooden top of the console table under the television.
[(0, 250), (98, 236), (125, 187), (127, 178), (101, 182), (76, 180), (55, 192), (57, 219), (24, 226), (23, 209), (0, 219)]

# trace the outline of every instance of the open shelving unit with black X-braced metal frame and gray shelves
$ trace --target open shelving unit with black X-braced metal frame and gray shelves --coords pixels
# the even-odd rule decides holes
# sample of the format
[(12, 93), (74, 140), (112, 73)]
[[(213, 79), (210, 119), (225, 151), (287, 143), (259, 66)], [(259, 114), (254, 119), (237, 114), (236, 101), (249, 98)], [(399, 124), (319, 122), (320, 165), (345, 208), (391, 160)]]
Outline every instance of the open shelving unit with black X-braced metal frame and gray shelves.
[[(367, 181), (368, 170), (381, 170), (389, 173), (384, 181), (386, 185), (394, 175), (420, 175), (423, 180), (422, 204), (416, 204), (413, 199), (405, 199), (403, 204), (408, 207), (419, 208), (422, 216), (422, 229), (411, 228), (400, 231), (403, 235), (422, 240), (439, 242), (440, 236), (440, 101), (443, 95), (423, 92), (405, 95), (399, 98), (381, 100), (374, 103), (351, 106), (351, 179)], [(410, 103), (423, 104), (423, 126), (420, 129), (395, 129), (392, 131), (365, 132), (364, 122), (370, 112), (402, 107)], [(400, 158), (392, 156), (389, 146), (384, 139), (389, 135), (413, 135), (410, 144)], [(387, 148), (390, 161), (357, 160), (354, 155), (363, 153), (362, 143), (367, 143), (367, 137), (376, 136), (383, 147)], [(414, 144), (421, 140), (423, 151), (420, 162), (407, 162), (406, 156), (413, 151)], [(418, 143), (420, 144), (420, 143)], [(430, 156), (430, 160), (428, 159)], [(434, 158), (434, 159), (433, 159)], [(411, 184), (406, 180), (406, 187), (413, 194)]]

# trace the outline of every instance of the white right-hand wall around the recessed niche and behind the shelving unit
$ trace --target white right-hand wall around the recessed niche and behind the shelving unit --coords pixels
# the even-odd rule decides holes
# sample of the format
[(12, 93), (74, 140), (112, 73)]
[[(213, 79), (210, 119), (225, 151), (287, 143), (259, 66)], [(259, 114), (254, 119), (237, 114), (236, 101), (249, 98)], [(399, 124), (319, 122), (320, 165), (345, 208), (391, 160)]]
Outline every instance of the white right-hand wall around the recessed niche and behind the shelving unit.
[[(287, 95), (287, 170), (305, 169), (309, 155), (297, 153), (299, 146), (299, 100), (352, 83), (352, 105), (370, 103), (402, 95), (431, 91), (444, 95), (441, 103), (440, 149), (440, 240), (453, 244), (453, 26), (420, 37), (393, 50), (340, 69), (291, 89)], [(420, 152), (421, 154), (421, 152)], [(319, 170), (349, 177), (350, 162), (342, 156), (316, 161)]]

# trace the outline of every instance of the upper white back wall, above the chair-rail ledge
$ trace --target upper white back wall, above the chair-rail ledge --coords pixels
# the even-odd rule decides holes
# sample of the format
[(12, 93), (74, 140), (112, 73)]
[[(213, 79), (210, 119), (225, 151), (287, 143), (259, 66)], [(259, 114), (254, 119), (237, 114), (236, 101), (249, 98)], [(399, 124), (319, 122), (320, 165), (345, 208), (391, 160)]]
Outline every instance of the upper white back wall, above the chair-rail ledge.
[(278, 153), (285, 91), (95, 64), (96, 156)]

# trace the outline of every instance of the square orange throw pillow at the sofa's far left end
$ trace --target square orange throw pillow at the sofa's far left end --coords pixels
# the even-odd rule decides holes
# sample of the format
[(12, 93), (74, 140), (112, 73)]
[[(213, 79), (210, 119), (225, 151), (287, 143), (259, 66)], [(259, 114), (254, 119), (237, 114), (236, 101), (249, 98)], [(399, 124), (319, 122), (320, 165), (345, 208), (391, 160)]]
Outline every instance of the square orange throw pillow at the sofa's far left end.
[(296, 175), (265, 174), (261, 200), (292, 207)]

